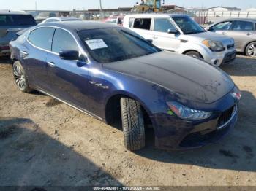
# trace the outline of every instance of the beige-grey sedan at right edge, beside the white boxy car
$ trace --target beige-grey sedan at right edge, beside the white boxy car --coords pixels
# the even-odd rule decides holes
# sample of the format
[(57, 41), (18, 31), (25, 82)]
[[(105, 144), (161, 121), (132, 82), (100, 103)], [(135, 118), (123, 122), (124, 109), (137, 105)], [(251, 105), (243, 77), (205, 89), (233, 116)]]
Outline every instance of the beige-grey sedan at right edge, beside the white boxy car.
[(230, 18), (214, 23), (206, 30), (232, 37), (237, 52), (256, 57), (256, 19)]

